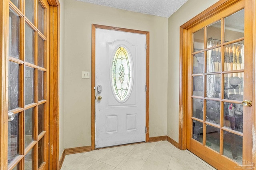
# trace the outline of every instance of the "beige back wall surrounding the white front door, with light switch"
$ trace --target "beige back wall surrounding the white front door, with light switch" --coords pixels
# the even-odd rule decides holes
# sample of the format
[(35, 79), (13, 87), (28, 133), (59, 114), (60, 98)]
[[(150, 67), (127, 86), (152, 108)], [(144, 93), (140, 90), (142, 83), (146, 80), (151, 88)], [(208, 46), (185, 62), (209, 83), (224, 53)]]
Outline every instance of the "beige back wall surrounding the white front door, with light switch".
[(64, 136), (60, 143), (64, 141), (65, 148), (91, 145), (91, 79), (82, 79), (81, 75), (82, 71), (91, 72), (92, 23), (150, 31), (149, 132), (150, 137), (167, 135), (168, 18), (75, 0), (63, 2), (60, 117), (64, 115), (64, 122), (60, 122), (60, 128), (64, 126), (64, 131), (60, 129), (60, 134)]

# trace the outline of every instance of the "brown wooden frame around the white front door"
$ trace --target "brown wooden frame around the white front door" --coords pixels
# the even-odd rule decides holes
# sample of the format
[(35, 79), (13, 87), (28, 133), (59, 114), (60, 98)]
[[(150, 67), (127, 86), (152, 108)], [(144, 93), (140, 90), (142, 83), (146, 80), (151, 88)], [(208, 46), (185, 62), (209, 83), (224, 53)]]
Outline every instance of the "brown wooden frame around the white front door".
[(139, 33), (146, 35), (146, 142), (149, 141), (149, 32), (148, 31), (139, 31), (134, 29), (125, 29), (120, 27), (110, 27), (105, 25), (92, 24), (92, 83), (91, 83), (91, 147), (92, 150), (95, 150), (95, 49), (96, 49), (96, 28), (109, 29), (114, 31), (124, 31), (129, 33)]

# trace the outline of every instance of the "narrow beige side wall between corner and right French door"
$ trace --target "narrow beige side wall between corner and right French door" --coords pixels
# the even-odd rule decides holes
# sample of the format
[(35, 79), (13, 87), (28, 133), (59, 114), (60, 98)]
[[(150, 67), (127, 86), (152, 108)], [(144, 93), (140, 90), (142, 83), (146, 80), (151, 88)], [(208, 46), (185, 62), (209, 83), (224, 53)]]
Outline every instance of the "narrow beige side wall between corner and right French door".
[(168, 132), (179, 139), (179, 69), (180, 69), (180, 26), (192, 19), (218, 0), (188, 0), (168, 20)]

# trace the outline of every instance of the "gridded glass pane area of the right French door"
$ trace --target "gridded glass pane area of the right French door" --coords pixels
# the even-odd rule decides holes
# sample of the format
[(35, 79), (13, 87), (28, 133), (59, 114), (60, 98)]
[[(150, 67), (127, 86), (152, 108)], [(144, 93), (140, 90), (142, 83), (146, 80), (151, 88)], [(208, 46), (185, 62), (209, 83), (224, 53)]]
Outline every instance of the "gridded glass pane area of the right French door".
[(244, 9), (192, 32), (192, 40), (191, 141), (242, 161)]

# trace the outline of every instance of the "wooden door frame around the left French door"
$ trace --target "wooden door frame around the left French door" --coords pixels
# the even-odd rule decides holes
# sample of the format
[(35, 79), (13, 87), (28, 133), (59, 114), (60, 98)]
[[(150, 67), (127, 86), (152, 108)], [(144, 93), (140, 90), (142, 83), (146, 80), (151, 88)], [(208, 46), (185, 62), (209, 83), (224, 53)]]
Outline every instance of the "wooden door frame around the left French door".
[[(49, 169), (59, 166), (59, 37), (60, 3), (50, 5), (50, 98), (49, 98)], [(9, 1), (0, 1), (0, 169), (8, 169), (8, 27)]]

